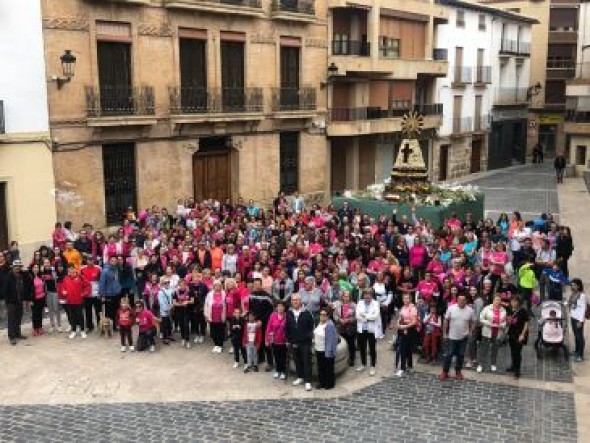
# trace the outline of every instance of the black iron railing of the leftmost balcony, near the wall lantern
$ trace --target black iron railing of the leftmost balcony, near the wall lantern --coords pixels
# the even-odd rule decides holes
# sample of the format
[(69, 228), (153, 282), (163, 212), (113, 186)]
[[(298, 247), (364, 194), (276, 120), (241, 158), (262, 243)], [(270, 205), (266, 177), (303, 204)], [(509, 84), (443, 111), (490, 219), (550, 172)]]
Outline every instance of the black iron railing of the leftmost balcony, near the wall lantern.
[(86, 86), (86, 114), (88, 117), (154, 115), (154, 88)]

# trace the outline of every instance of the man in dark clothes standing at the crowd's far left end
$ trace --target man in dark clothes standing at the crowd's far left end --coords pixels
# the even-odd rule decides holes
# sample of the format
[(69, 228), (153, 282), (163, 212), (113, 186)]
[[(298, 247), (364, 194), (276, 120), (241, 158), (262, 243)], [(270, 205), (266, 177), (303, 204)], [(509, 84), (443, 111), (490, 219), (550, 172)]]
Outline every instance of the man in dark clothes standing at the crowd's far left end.
[(33, 281), (30, 274), (22, 269), (23, 263), (21, 260), (12, 262), (12, 270), (4, 282), (8, 340), (12, 346), (16, 345), (17, 339), (24, 340), (27, 338), (20, 330), (23, 318), (23, 302), (30, 303), (33, 299)]

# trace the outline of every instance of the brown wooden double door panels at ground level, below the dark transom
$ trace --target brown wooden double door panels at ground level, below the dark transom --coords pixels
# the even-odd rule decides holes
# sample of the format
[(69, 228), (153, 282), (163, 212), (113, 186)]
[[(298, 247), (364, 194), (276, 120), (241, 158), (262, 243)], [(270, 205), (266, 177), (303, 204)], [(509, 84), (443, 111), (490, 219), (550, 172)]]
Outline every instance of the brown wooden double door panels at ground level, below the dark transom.
[(193, 156), (195, 201), (231, 199), (231, 158), (229, 152)]

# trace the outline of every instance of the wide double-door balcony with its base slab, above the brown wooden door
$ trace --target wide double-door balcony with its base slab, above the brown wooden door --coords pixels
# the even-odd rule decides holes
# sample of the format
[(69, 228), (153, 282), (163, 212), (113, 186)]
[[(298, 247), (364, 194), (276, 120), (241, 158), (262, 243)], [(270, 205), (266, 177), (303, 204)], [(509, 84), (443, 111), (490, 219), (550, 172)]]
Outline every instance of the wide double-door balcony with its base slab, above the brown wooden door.
[(173, 123), (263, 119), (262, 88), (170, 87)]

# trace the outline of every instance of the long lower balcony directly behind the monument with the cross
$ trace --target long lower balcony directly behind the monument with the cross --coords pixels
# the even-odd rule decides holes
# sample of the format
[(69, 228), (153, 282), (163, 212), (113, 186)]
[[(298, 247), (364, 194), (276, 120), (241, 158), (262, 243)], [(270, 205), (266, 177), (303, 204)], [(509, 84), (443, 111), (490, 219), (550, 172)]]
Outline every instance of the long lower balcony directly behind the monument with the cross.
[(379, 107), (331, 109), (327, 134), (330, 137), (342, 137), (399, 132), (402, 117), (412, 109), (423, 116), (425, 129), (440, 126), (441, 104), (412, 105), (410, 100), (392, 100), (389, 109)]

